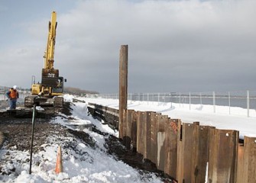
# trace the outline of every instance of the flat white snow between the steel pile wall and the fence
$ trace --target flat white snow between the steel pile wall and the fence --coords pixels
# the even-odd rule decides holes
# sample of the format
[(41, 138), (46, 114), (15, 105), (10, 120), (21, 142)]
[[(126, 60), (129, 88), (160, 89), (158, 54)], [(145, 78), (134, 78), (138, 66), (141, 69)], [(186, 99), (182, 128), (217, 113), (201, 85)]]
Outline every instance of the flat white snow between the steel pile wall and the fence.
[[(118, 100), (104, 98), (86, 98), (86, 102), (102, 104), (109, 108), (118, 108)], [(128, 101), (128, 109), (135, 111), (156, 111), (166, 114), (172, 119), (180, 119), (183, 123), (199, 121), (200, 125), (208, 125), (218, 129), (238, 130), (240, 138), (256, 136), (256, 111), (228, 106), (175, 104), (157, 101)], [(230, 110), (230, 114), (229, 114)], [(215, 111), (215, 112), (214, 112)]]

